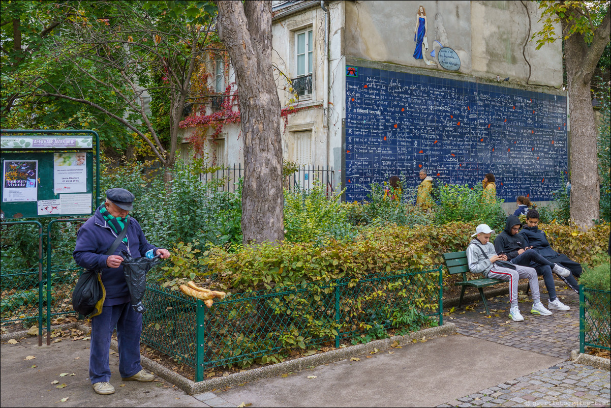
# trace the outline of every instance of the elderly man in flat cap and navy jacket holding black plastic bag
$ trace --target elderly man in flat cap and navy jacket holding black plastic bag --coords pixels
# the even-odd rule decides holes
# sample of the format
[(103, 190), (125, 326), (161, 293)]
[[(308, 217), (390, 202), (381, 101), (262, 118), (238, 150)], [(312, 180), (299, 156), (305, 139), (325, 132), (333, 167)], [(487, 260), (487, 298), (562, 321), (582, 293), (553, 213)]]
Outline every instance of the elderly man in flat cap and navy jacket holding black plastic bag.
[[(147, 242), (142, 228), (134, 218), (127, 223), (133, 209), (134, 195), (125, 188), (111, 188), (106, 192), (106, 202), (93, 217), (79, 229), (73, 258), (81, 267), (102, 271), (102, 283), (106, 299), (101, 314), (91, 319), (91, 344), (89, 355), (89, 379), (93, 390), (101, 395), (114, 393), (110, 384), (109, 347), (112, 332), (117, 327), (119, 343), (119, 373), (123, 381), (148, 382), (155, 376), (142, 369), (140, 363), (140, 335), (142, 314), (131, 307), (130, 292), (123, 276), (119, 255), (125, 250), (134, 258), (147, 256), (168, 258), (169, 251)], [(118, 234), (127, 224), (125, 238), (114, 254), (106, 255)]]

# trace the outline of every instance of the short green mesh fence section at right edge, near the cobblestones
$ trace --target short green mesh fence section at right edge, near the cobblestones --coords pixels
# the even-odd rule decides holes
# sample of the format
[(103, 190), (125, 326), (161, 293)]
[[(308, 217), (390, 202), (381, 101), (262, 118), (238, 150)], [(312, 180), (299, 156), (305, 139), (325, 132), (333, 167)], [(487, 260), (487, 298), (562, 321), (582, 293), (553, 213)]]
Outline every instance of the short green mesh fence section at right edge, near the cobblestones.
[(585, 346), (609, 350), (611, 292), (579, 285), (579, 352)]

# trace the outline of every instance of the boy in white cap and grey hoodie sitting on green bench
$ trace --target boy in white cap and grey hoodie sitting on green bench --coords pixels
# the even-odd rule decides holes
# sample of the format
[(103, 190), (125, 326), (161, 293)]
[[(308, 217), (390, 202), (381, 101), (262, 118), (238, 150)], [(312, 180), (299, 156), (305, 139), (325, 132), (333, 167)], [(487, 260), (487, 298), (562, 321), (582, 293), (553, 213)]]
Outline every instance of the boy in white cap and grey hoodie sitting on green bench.
[(500, 279), (509, 281), (509, 302), (511, 308), (509, 317), (514, 322), (524, 321), (524, 317), (520, 314), (518, 308), (518, 280), (520, 278), (528, 278), (530, 292), (532, 292), (533, 306), (530, 310), (532, 314), (540, 316), (549, 316), (551, 311), (547, 310), (541, 303), (539, 296), (539, 281), (537, 279), (536, 270), (531, 267), (513, 265), (507, 262), (505, 254), (497, 255), (494, 250), (494, 245), (490, 242), (492, 230), (486, 224), (479, 224), (472, 237), (469, 247), (467, 247), (467, 262), (469, 262), (469, 270), (473, 273), (482, 273), (485, 278)]

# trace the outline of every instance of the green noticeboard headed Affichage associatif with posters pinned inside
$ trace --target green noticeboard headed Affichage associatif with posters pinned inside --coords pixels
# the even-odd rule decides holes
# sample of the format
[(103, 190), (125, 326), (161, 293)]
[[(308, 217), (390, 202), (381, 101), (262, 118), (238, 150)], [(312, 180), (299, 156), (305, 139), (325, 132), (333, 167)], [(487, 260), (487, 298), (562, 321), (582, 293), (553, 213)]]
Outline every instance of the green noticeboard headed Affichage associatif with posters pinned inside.
[(93, 130), (2, 129), (0, 152), (2, 221), (82, 217), (97, 209), (100, 138)]

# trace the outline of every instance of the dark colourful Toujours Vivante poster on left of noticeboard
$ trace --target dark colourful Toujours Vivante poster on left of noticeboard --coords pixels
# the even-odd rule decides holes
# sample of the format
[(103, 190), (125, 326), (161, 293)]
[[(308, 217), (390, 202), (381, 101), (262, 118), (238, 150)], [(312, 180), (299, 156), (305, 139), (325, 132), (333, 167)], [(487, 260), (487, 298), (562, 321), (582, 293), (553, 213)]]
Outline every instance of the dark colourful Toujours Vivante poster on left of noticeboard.
[(38, 160), (5, 160), (2, 201), (37, 201)]

